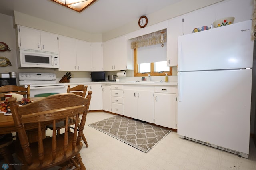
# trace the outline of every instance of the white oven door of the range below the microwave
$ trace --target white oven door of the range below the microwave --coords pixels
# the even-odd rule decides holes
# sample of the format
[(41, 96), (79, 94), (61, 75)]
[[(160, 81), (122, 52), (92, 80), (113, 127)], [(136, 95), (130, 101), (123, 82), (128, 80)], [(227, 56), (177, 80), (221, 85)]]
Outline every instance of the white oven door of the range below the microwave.
[(58, 93), (67, 93), (65, 85), (30, 87), (30, 97), (46, 97)]

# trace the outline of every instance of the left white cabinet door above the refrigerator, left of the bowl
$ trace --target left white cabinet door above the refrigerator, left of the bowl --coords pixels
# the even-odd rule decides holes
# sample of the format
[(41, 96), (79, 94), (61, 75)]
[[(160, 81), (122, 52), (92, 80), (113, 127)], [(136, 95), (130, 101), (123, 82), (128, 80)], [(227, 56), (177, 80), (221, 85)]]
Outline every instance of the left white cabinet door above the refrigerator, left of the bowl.
[(215, 21), (215, 14), (216, 7), (209, 6), (184, 15), (183, 34), (191, 34), (194, 28), (201, 28), (202, 26), (210, 27), (211, 24)]

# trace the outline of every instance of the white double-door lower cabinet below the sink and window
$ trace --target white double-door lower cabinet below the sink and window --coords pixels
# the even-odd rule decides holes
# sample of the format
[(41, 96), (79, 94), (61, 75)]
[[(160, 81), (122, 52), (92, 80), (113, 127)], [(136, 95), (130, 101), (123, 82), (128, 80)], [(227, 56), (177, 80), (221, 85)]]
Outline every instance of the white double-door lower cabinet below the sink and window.
[(154, 123), (154, 86), (124, 85), (124, 115)]

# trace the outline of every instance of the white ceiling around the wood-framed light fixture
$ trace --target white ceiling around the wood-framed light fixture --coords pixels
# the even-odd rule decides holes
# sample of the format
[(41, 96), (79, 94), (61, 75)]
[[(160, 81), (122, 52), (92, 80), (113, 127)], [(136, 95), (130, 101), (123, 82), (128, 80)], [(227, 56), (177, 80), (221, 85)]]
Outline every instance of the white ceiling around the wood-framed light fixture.
[(78, 13), (50, 0), (0, 0), (0, 13), (14, 10), (88, 33), (104, 33), (181, 0), (97, 0)]

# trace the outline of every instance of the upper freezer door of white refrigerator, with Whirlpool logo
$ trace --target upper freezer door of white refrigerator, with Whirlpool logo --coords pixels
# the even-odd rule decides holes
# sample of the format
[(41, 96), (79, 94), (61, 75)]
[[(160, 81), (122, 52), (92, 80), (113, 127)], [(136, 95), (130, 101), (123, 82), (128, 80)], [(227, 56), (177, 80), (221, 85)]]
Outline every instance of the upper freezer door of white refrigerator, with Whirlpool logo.
[(178, 71), (252, 68), (252, 20), (178, 37)]

